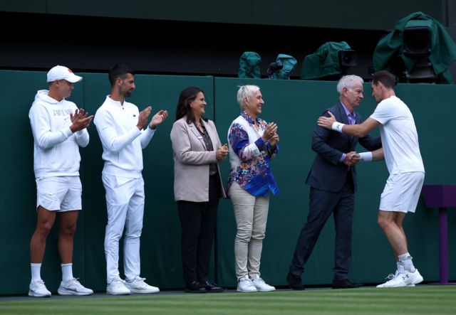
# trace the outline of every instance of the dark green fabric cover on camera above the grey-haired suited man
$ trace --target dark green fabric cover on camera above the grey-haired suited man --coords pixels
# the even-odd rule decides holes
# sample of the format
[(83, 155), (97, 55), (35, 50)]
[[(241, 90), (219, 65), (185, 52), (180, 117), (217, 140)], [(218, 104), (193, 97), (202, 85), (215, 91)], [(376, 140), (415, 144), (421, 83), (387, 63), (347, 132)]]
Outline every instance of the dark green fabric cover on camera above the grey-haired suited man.
[(311, 55), (306, 55), (302, 65), (301, 79), (312, 80), (323, 78), (328, 75), (340, 75), (342, 73), (339, 63), (339, 50), (349, 50), (348, 43), (328, 41)]

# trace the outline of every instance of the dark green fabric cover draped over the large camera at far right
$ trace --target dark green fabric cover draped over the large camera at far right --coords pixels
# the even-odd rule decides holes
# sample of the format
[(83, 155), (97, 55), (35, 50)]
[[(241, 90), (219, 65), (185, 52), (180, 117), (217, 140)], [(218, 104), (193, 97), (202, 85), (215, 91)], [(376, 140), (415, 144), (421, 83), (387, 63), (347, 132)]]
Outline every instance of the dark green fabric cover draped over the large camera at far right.
[(403, 30), (410, 20), (432, 21), (432, 50), (429, 60), (432, 63), (435, 75), (440, 75), (440, 80), (437, 83), (451, 84), (452, 78), (448, 66), (456, 60), (456, 43), (439, 21), (423, 14), (423, 12), (415, 12), (400, 19), (395, 24), (393, 31), (380, 39), (373, 53), (374, 70), (390, 70), (391, 58), (398, 55), (403, 60), (405, 69), (411, 73), (415, 61), (403, 54)]

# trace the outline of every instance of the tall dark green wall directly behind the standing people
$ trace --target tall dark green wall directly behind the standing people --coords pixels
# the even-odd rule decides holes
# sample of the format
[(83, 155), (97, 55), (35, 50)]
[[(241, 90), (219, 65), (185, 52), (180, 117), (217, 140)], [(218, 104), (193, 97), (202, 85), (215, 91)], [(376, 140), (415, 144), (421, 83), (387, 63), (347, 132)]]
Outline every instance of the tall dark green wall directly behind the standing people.
[[(80, 73), (69, 98), (90, 113), (105, 100), (110, 87), (107, 75)], [(141, 238), (142, 276), (160, 289), (182, 288), (180, 263), (180, 224), (172, 195), (172, 149), (170, 130), (180, 91), (190, 85), (202, 87), (208, 100), (207, 116), (217, 124), (219, 137), (226, 142), (227, 129), (239, 114), (238, 85), (261, 87), (266, 104), (262, 117), (279, 125), (280, 154), (272, 164), (281, 193), (271, 197), (266, 239), (261, 260), (262, 277), (276, 286), (285, 285), (285, 276), (296, 237), (309, 210), (309, 188), (305, 178), (314, 159), (311, 133), (321, 112), (337, 100), (336, 82), (303, 80), (244, 80), (238, 78), (136, 75), (137, 90), (131, 102), (140, 109), (152, 105), (154, 112), (167, 109), (169, 119), (160, 126), (144, 151), (146, 189), (144, 229)], [(25, 294), (30, 281), (29, 241), (36, 224), (36, 188), (33, 176), (33, 137), (28, 121), (36, 90), (46, 89), (46, 73), (0, 71), (0, 92), (5, 110), (0, 124), (0, 144), (4, 168), (0, 188), (0, 279), (8, 286), (0, 294)], [(455, 183), (456, 166), (451, 117), (456, 114), (455, 85), (398, 85), (397, 94), (412, 110), (420, 137), (427, 184)], [(375, 108), (371, 87), (359, 107), (363, 117)], [(105, 290), (103, 250), (106, 223), (105, 196), (101, 182), (101, 145), (95, 126), (89, 127), (90, 144), (81, 149), (83, 211), (78, 221), (74, 250), (74, 274), (95, 291)], [(360, 146), (359, 151), (364, 151)], [(222, 164), (226, 180), (229, 162)], [(358, 192), (353, 223), (353, 267), (351, 279), (360, 283), (381, 282), (394, 271), (390, 247), (376, 224), (379, 196), (388, 173), (383, 161), (358, 166)], [(450, 279), (456, 279), (455, 214), (450, 209)], [(42, 277), (56, 292), (61, 280), (56, 247), (56, 228), (48, 238)], [(415, 215), (405, 220), (410, 252), (425, 281), (438, 280), (437, 210), (423, 201)], [(234, 215), (231, 201), (219, 206), (214, 250), (214, 279), (225, 287), (235, 286)], [(314, 253), (306, 265), (306, 284), (330, 284), (333, 267), (333, 222), (328, 220)], [(121, 250), (122, 252), (122, 250)]]

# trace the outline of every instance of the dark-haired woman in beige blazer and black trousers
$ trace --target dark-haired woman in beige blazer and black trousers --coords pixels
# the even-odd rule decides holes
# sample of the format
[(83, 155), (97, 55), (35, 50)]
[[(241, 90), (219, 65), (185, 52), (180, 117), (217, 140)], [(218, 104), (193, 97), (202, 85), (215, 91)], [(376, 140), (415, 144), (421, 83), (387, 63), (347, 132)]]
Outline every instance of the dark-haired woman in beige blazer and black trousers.
[(218, 166), (228, 154), (214, 122), (204, 118), (207, 103), (199, 87), (180, 92), (172, 125), (174, 196), (182, 227), (185, 292), (222, 292), (207, 279), (219, 198), (226, 198)]

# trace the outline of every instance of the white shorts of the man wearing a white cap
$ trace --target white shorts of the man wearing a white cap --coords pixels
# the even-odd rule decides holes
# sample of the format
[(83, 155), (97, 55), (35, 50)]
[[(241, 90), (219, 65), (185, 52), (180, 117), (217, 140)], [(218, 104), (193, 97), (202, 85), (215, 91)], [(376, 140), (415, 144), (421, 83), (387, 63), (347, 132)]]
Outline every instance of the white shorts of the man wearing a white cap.
[(81, 210), (83, 188), (79, 176), (36, 178), (36, 208), (64, 212)]

